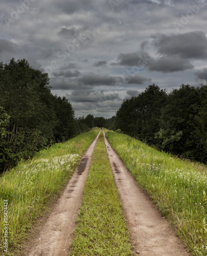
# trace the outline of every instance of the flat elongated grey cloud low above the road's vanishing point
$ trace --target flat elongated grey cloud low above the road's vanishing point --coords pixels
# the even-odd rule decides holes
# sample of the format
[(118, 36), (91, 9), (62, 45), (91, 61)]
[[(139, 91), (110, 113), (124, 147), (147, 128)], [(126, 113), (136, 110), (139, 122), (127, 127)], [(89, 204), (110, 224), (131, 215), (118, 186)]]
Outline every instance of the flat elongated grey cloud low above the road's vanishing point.
[(116, 82), (121, 81), (121, 77), (108, 76), (108, 75), (99, 75), (99, 74), (86, 74), (83, 77), (79, 78), (80, 82), (88, 84), (89, 86), (112, 86)]

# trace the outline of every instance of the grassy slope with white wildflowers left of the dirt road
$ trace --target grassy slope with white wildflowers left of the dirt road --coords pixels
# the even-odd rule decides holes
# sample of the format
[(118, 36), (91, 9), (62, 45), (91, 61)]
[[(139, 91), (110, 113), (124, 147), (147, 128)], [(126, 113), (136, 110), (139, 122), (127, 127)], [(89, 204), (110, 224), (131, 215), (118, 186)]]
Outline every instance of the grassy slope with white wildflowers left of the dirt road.
[(35, 220), (46, 210), (72, 176), (99, 129), (83, 133), (39, 152), (0, 176), (0, 255), (4, 255), (4, 200), (8, 200), (8, 253), (27, 237)]

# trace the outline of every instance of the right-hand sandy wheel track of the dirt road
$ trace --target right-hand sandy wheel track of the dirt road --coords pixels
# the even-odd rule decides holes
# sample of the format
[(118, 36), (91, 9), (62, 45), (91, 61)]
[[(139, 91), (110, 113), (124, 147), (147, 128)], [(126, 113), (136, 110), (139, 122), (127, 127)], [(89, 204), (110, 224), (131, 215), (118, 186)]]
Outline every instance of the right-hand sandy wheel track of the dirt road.
[(146, 256), (190, 255), (175, 236), (170, 224), (137, 186), (106, 137), (105, 144), (135, 247), (135, 255), (138, 255), (137, 253)]

